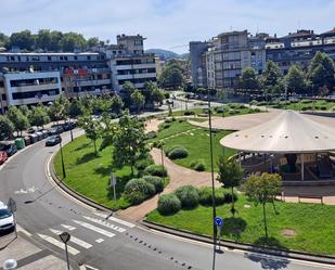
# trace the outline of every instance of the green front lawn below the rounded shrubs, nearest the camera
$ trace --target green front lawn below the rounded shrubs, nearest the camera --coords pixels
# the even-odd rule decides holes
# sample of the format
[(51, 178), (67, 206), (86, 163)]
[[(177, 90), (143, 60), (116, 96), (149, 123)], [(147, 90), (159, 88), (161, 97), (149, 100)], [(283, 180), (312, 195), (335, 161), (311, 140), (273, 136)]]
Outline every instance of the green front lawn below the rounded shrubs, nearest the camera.
[[(246, 208), (248, 205), (249, 208)], [(335, 255), (335, 206), (318, 204), (275, 203), (267, 206), (269, 245), (318, 254)], [(263, 244), (262, 208), (240, 195), (237, 215), (230, 213), (230, 205), (219, 206), (217, 215), (224, 218), (222, 236), (227, 240)], [(172, 216), (162, 216), (157, 210), (147, 220), (197, 234), (212, 235), (210, 207), (198, 206), (193, 210), (180, 210)], [(283, 230), (294, 230), (295, 236), (284, 236)]]

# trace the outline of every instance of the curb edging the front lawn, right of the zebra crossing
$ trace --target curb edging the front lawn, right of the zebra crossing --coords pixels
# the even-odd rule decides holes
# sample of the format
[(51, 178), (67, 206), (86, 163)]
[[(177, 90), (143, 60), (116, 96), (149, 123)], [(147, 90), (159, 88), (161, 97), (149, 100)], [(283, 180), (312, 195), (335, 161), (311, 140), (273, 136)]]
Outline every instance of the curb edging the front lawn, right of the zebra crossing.
[[(167, 227), (167, 226), (162, 226), (162, 224), (146, 221), (146, 220), (142, 220), (140, 221), (140, 223), (149, 229), (172, 234), (179, 237), (203, 242), (206, 244), (212, 244), (212, 239), (209, 235), (195, 234), (190, 231), (179, 230), (179, 229), (175, 229), (175, 228)], [(265, 246), (258, 246), (258, 245), (253, 245), (253, 244), (242, 244), (242, 243), (236, 243), (236, 242), (227, 241), (227, 240), (221, 240), (221, 246), (224, 246), (229, 249), (241, 249), (241, 250), (245, 250), (248, 253), (259, 253), (259, 254), (266, 254), (266, 255), (271, 255), (271, 256), (278, 256), (282, 258), (304, 260), (304, 261), (309, 261), (309, 262), (325, 263), (325, 265), (333, 265), (333, 266), (335, 265), (335, 256), (295, 252), (291, 249), (285, 250), (285, 249), (265, 247)]]

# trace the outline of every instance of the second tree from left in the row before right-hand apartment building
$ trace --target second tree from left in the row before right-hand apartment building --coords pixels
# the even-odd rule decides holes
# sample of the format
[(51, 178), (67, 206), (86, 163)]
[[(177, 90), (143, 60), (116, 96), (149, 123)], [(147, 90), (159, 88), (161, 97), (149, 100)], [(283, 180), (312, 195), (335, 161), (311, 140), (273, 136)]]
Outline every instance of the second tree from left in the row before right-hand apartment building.
[(261, 75), (261, 83), (267, 93), (278, 93), (283, 89), (282, 73), (278, 64), (268, 61), (266, 69)]

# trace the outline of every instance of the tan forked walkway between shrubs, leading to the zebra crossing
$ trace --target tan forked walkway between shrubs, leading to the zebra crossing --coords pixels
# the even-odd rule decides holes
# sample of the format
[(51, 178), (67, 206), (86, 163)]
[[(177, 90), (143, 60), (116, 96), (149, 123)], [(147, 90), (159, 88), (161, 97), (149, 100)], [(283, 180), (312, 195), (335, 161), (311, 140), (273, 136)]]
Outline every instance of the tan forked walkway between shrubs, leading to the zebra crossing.
[[(154, 158), (155, 164), (162, 165), (162, 154), (159, 149), (153, 149), (151, 155)], [(185, 184), (192, 184), (194, 187), (211, 187), (211, 176), (209, 172), (198, 172), (192, 169), (181, 167), (169, 158), (164, 156), (164, 166), (168, 171), (170, 182), (165, 188), (163, 194), (173, 192), (177, 188)], [(217, 175), (215, 175), (217, 178)], [(220, 183), (216, 181), (216, 185), (220, 187)], [(154, 210), (157, 207), (158, 195), (143, 202), (140, 205), (131, 206), (119, 214), (132, 220), (141, 220), (146, 214)]]

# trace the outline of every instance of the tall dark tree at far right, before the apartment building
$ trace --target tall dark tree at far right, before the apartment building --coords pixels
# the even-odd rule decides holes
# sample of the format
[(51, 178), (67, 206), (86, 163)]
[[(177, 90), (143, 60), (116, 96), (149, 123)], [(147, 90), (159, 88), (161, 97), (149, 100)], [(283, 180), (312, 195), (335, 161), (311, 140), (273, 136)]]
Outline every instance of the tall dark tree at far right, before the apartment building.
[(335, 87), (335, 65), (331, 56), (324, 52), (317, 52), (311, 60), (308, 76), (311, 79), (314, 90), (322, 90), (326, 87), (328, 90)]

